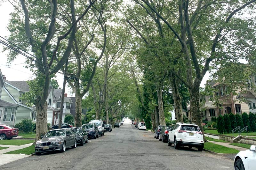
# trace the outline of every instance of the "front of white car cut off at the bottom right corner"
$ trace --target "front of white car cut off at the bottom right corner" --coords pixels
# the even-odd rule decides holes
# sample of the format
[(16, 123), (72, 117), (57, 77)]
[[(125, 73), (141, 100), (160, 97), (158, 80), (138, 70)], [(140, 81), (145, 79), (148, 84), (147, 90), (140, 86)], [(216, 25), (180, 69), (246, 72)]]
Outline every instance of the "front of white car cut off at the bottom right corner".
[(256, 146), (252, 145), (250, 150), (240, 151), (234, 159), (235, 170), (254, 170), (256, 168)]

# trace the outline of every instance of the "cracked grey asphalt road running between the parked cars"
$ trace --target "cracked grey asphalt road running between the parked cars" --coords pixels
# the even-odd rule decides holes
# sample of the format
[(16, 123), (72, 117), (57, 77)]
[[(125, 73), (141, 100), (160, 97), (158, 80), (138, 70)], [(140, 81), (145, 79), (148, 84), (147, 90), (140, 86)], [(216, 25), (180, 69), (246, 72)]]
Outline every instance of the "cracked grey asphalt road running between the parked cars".
[(188, 147), (175, 150), (154, 138), (152, 132), (137, 130), (127, 119), (125, 122), (84, 146), (20, 159), (0, 169), (233, 170), (230, 159)]

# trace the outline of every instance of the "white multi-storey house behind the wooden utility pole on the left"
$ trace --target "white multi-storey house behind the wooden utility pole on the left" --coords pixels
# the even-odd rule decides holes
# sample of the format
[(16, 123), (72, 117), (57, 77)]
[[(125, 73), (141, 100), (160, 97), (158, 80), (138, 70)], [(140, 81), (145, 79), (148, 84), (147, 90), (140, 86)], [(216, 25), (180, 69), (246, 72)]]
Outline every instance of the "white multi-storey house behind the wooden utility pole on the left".
[[(54, 91), (54, 98), (53, 98), (53, 102), (52, 102), (52, 106), (60, 109), (60, 102), (61, 102), (61, 92), (62, 89), (53, 89)], [(64, 118), (66, 115), (70, 115), (70, 109), (71, 109), (71, 105), (73, 104), (73, 101), (71, 100), (70, 97), (68, 97), (67, 93), (64, 93), (64, 103), (63, 103), (63, 113), (62, 113), (62, 122), (64, 122)], [(60, 112), (55, 112), (53, 113), (53, 117), (52, 117), (52, 122), (53, 124), (58, 124), (59, 120), (60, 120)]]

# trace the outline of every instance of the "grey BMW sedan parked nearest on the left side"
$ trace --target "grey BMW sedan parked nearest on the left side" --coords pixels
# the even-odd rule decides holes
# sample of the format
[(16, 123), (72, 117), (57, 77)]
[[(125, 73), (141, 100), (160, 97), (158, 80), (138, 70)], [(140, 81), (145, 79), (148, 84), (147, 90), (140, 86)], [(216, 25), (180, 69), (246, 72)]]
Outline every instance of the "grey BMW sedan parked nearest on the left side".
[(70, 129), (54, 129), (36, 142), (35, 153), (40, 155), (51, 151), (65, 152), (69, 147), (76, 148), (76, 134)]

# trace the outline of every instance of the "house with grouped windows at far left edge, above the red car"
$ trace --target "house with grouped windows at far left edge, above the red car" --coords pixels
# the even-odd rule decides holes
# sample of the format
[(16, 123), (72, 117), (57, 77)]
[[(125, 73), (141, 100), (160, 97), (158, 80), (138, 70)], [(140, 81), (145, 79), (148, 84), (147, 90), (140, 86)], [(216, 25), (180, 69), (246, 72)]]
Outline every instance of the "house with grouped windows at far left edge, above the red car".
[(0, 124), (14, 127), (19, 105), (2, 99), (2, 88), (5, 86), (4, 78), (0, 69)]

